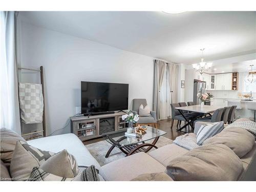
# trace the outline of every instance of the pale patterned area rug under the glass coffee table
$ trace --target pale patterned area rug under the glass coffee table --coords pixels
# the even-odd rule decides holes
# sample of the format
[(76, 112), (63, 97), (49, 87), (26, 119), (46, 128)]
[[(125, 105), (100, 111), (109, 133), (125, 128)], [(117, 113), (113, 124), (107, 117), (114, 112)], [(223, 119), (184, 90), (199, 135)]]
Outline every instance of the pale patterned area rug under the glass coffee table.
[[(154, 140), (154, 139), (153, 139)], [(146, 143), (152, 143), (153, 140), (148, 140)], [(173, 143), (173, 140), (170, 140), (164, 136), (160, 137), (156, 143), (156, 146), (159, 148), (161, 146), (171, 144)], [(116, 161), (118, 159), (124, 158), (125, 154), (122, 153), (119, 148), (114, 148), (114, 150), (111, 152), (110, 156), (108, 158), (105, 158), (106, 152), (109, 151), (109, 148), (112, 145), (107, 141), (99, 141), (97, 143), (92, 143), (89, 145), (86, 145), (92, 156), (99, 162), (100, 166), (103, 166), (105, 164), (108, 164), (112, 161)], [(155, 150), (155, 148), (152, 148), (151, 151)]]

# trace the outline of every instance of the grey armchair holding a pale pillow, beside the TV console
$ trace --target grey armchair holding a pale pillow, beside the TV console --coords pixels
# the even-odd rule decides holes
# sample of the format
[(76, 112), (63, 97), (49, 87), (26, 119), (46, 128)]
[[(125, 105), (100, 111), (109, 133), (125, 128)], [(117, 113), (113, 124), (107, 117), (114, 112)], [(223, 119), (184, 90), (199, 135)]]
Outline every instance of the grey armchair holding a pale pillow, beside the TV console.
[[(133, 114), (134, 115), (139, 115), (139, 108), (140, 105), (143, 105), (145, 107), (147, 105), (146, 99), (133, 99)], [(156, 128), (158, 127), (157, 125), (157, 114), (155, 111), (151, 111), (149, 115), (147, 116), (141, 116), (139, 115), (139, 121), (136, 123), (140, 125), (148, 125), (148, 126), (155, 126)]]

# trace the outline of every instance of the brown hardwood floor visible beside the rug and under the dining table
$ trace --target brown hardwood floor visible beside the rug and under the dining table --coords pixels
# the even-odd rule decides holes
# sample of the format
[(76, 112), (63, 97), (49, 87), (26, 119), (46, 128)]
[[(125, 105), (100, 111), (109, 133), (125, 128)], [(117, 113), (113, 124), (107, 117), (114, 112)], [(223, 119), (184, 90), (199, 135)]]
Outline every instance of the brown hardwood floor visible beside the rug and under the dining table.
[[(164, 119), (164, 120), (158, 121), (158, 125), (159, 125), (160, 130), (163, 130), (163, 131), (166, 132), (164, 137), (166, 137), (168, 139), (175, 140), (176, 137), (178, 137), (180, 135), (184, 135), (184, 133), (176, 131), (176, 129), (177, 129), (177, 120), (174, 121), (173, 129), (171, 130), (170, 129), (171, 122), (172, 122), (172, 119)], [(184, 122), (182, 122), (181, 125), (183, 123)], [(96, 142), (103, 141), (103, 140), (104, 140), (103, 138), (91, 139), (89, 141), (84, 141), (83, 144), (87, 145), (87, 144), (96, 143)]]

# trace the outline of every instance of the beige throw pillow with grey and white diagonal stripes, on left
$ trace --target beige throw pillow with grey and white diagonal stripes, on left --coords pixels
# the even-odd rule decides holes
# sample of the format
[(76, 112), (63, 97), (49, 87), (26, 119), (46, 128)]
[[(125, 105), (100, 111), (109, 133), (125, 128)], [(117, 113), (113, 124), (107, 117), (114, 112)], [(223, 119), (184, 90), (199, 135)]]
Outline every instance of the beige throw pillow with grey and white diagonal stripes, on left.
[(53, 152), (39, 150), (26, 142), (17, 141), (12, 155), (10, 175), (12, 178), (28, 178), (33, 167), (40, 166), (53, 155)]

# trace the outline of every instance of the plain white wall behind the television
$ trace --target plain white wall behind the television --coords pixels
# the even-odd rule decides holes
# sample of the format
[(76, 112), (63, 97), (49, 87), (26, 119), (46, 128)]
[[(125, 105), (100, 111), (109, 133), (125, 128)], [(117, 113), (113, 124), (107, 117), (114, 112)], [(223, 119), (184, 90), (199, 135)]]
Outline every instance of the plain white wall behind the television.
[[(146, 98), (152, 108), (154, 58), (27, 23), (20, 33), (22, 66), (45, 69), (48, 134), (65, 126), (80, 106), (80, 81), (129, 83), (129, 108), (133, 98)], [(70, 125), (56, 134), (69, 132)]]

